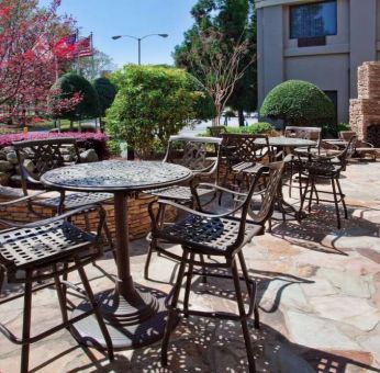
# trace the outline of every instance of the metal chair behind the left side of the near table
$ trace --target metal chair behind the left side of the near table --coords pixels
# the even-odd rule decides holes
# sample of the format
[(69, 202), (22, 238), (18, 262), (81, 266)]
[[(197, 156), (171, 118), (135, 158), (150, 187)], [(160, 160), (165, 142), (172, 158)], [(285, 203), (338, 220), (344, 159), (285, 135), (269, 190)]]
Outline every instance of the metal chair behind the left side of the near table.
[[(34, 139), (13, 143), (21, 174), (21, 184), (24, 195), (29, 195), (29, 188), (44, 188), (40, 181), (41, 177), (48, 170), (53, 170), (63, 166), (72, 163), (80, 163), (80, 155), (75, 138), (48, 138), (48, 139)], [(72, 161), (65, 160), (66, 155), (64, 149), (71, 152)], [(24, 160), (32, 161), (32, 167), (25, 167)], [(33, 168), (33, 170), (31, 169)], [(80, 206), (90, 204), (100, 204), (110, 199), (110, 193), (69, 193), (60, 192), (58, 196), (46, 197), (38, 201), (29, 200), (29, 210), (37, 214), (34, 206), (49, 207), (56, 213), (63, 213)], [(85, 222), (88, 225), (87, 214)], [(104, 233), (107, 235), (109, 245), (112, 248), (112, 238), (107, 223), (104, 224)]]

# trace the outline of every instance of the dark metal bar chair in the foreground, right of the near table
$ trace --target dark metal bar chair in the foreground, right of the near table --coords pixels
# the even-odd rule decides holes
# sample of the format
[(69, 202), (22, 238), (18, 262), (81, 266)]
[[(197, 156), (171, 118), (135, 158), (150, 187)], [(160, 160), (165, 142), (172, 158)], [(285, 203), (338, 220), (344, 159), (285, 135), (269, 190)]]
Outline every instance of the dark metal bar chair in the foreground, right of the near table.
[[(177, 315), (182, 314), (185, 316), (195, 315), (241, 321), (247, 350), (249, 371), (255, 371), (255, 359), (249, 336), (248, 319), (253, 314), (255, 314), (255, 327), (259, 327), (259, 315), (256, 303), (256, 283), (248, 275), (242, 249), (247, 242), (252, 241), (255, 236), (264, 234), (265, 223), (272, 213), (273, 202), (278, 192), (278, 185), (281, 181), (282, 171), (283, 162), (261, 167), (257, 171), (255, 182), (253, 182), (248, 193), (244, 194), (243, 201), (241, 201), (236, 208), (225, 214), (205, 213), (202, 210), (194, 211), (172, 201), (159, 200), (158, 202), (160, 204), (176, 206), (178, 210), (187, 213), (186, 217), (178, 223), (163, 227), (158, 224), (157, 216), (155, 215), (150, 204), (149, 213), (153, 222), (152, 239), (156, 249), (163, 255), (180, 261), (176, 284), (167, 298), (169, 316), (161, 344), (163, 365), (167, 365), (169, 337), (176, 324)], [(269, 180), (266, 192), (262, 194), (260, 207), (258, 211), (254, 212), (252, 210), (252, 197), (262, 172), (268, 174)], [(202, 188), (202, 184), (200, 184), (200, 187)], [(228, 191), (217, 185), (212, 185), (212, 188), (219, 192), (223, 191), (224, 193), (230, 192), (236, 194), (236, 192)], [(197, 189), (194, 192), (197, 192)], [(243, 196), (243, 194), (241, 194), (241, 196)], [(236, 213), (239, 214), (238, 217), (235, 216)], [(165, 245), (168, 242), (180, 245), (182, 253), (178, 255), (168, 249), (167, 245)], [(208, 256), (210, 261), (203, 262), (197, 260), (195, 257), (198, 258), (198, 256)], [(239, 261), (243, 276), (239, 276), (238, 274), (237, 261)], [(203, 271), (195, 272), (193, 270), (194, 265), (210, 269), (227, 269), (232, 271), (232, 276), (211, 271), (205, 273)], [(187, 273), (185, 273), (186, 268), (188, 268)], [(238, 315), (226, 312), (208, 313), (199, 309), (189, 309), (190, 287), (193, 274), (232, 278), (235, 285)], [(187, 281), (183, 308), (179, 308), (178, 298), (185, 275)], [(249, 295), (248, 310), (246, 310), (244, 306), (241, 280), (244, 280), (247, 286)]]

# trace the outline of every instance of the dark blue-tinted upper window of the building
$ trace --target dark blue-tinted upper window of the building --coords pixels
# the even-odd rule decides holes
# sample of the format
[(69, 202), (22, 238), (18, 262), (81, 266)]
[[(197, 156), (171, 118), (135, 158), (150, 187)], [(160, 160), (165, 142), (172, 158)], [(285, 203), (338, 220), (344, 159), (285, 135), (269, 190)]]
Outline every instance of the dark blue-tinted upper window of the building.
[(290, 38), (336, 35), (336, 0), (290, 7)]

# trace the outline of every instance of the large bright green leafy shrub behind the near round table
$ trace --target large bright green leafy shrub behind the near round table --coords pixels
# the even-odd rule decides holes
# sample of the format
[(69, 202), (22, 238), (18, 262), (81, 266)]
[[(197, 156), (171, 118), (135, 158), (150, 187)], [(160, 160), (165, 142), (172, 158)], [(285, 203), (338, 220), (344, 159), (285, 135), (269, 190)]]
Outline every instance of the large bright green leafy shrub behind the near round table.
[(208, 92), (185, 70), (126, 65), (112, 81), (118, 94), (107, 112), (107, 129), (142, 157), (152, 154), (156, 139), (165, 147), (187, 124), (214, 115)]

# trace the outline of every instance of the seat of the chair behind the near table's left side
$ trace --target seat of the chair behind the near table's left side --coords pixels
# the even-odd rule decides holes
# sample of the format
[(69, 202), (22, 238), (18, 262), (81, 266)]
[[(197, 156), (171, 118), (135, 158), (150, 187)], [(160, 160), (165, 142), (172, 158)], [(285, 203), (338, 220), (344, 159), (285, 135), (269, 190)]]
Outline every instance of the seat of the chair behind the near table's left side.
[[(102, 203), (113, 197), (110, 193), (67, 193), (65, 195), (65, 210), (72, 210), (90, 204)], [(60, 204), (60, 196), (46, 200), (34, 201), (33, 204), (44, 207), (57, 208)]]

